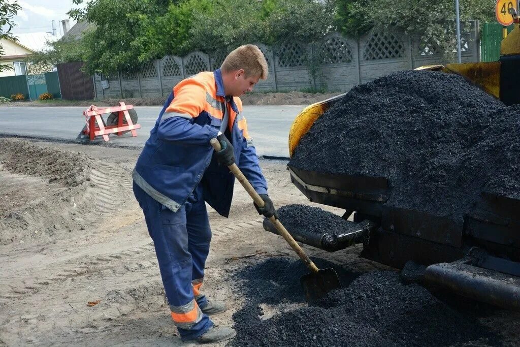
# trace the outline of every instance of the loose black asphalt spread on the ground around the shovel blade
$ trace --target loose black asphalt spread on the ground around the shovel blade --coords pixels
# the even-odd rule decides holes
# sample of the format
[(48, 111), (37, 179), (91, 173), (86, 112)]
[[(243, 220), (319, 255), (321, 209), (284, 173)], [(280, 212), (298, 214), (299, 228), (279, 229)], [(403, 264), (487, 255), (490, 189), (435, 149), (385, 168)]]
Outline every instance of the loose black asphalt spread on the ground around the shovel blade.
[(297, 276), (305, 272), (300, 261), (285, 258), (239, 271), (235, 279), (243, 281), (238, 289), (246, 302), (233, 315), (238, 334), (231, 345), (496, 345), (500, 339), (479, 324), (475, 315), (485, 310), (478, 303), (474, 310), (453, 307), (388, 271), (340, 275), (346, 287), (329, 293), (319, 306), (263, 320), (263, 303), (303, 298)]

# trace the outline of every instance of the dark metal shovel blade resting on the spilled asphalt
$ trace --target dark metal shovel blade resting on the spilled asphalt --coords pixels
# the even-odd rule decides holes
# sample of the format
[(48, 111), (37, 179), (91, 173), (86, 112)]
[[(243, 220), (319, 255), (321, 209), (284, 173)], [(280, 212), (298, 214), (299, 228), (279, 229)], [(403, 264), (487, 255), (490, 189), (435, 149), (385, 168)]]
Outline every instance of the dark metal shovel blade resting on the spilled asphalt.
[(334, 289), (341, 289), (340, 278), (331, 268), (320, 269), (318, 273), (310, 273), (300, 278), (309, 305), (314, 305), (323, 295)]

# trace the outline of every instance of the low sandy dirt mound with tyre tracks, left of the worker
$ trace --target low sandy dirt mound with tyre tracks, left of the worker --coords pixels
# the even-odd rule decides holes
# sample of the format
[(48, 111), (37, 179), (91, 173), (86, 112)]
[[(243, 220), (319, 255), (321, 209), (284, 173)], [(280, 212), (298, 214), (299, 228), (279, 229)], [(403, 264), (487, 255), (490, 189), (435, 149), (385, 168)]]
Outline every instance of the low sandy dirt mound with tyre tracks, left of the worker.
[(0, 139), (0, 244), (81, 232), (118, 208), (129, 173), (70, 151)]

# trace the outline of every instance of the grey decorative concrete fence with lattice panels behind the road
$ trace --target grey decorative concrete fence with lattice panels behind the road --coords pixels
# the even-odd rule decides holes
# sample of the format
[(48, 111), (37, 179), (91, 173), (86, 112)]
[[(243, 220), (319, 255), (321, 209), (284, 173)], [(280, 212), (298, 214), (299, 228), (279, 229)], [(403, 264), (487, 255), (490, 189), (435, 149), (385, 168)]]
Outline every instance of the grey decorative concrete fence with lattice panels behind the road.
[[(311, 44), (288, 41), (276, 47), (256, 45), (267, 59), (269, 76), (255, 86), (255, 91), (321, 87), (348, 91), (394, 71), (446, 62), (435, 42), (389, 31), (373, 31), (357, 40), (332, 33)], [(474, 23), (470, 31), (463, 32), (461, 46), (463, 62), (479, 61), (478, 25)], [(93, 76), (95, 94), (97, 98), (165, 97), (179, 81), (220, 67), (227, 53), (165, 56), (147, 63), (138, 73), (97, 74)]]

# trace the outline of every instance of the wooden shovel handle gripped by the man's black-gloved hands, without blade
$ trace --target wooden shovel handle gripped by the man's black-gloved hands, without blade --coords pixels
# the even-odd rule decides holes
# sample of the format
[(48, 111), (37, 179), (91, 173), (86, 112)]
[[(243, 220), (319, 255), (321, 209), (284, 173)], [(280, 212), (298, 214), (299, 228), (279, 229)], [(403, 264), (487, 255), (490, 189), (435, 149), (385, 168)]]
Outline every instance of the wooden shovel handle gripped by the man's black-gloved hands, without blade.
[[(212, 138), (210, 140), (210, 144), (216, 151), (219, 151), (220, 149), (222, 149), (222, 147), (220, 147), (220, 143), (218, 142), (218, 140), (216, 138)], [(233, 163), (233, 164), (229, 165), (228, 169), (233, 173), (233, 175), (235, 175), (235, 177), (237, 177), (238, 182), (240, 182), (242, 187), (244, 187), (244, 189), (248, 192), (249, 196), (251, 196), (251, 198), (253, 198), (253, 201), (259, 207), (264, 207), (264, 200), (262, 200), (262, 198), (258, 195), (256, 190), (251, 185), (251, 183), (249, 183), (248, 179), (245, 178), (244, 174), (242, 173), (242, 171), (240, 171), (237, 164)], [(289, 232), (287, 231), (287, 229), (285, 229), (285, 227), (282, 225), (282, 223), (280, 223), (280, 221), (277, 220), (275, 218), (275, 216), (269, 217), (269, 221), (271, 221), (271, 223), (276, 227), (276, 229), (278, 230), (280, 235), (285, 239), (285, 241), (287, 241), (287, 243), (289, 243), (289, 246), (291, 246), (291, 248), (296, 252), (296, 254), (298, 254), (298, 256), (300, 256), (300, 258), (303, 260), (305, 265), (307, 265), (307, 267), (310, 269), (310, 271), (317, 273), (319, 271), (318, 267), (313, 263), (312, 260), (309, 259), (307, 254), (305, 254), (303, 249), (293, 239), (291, 234), (289, 234)]]

